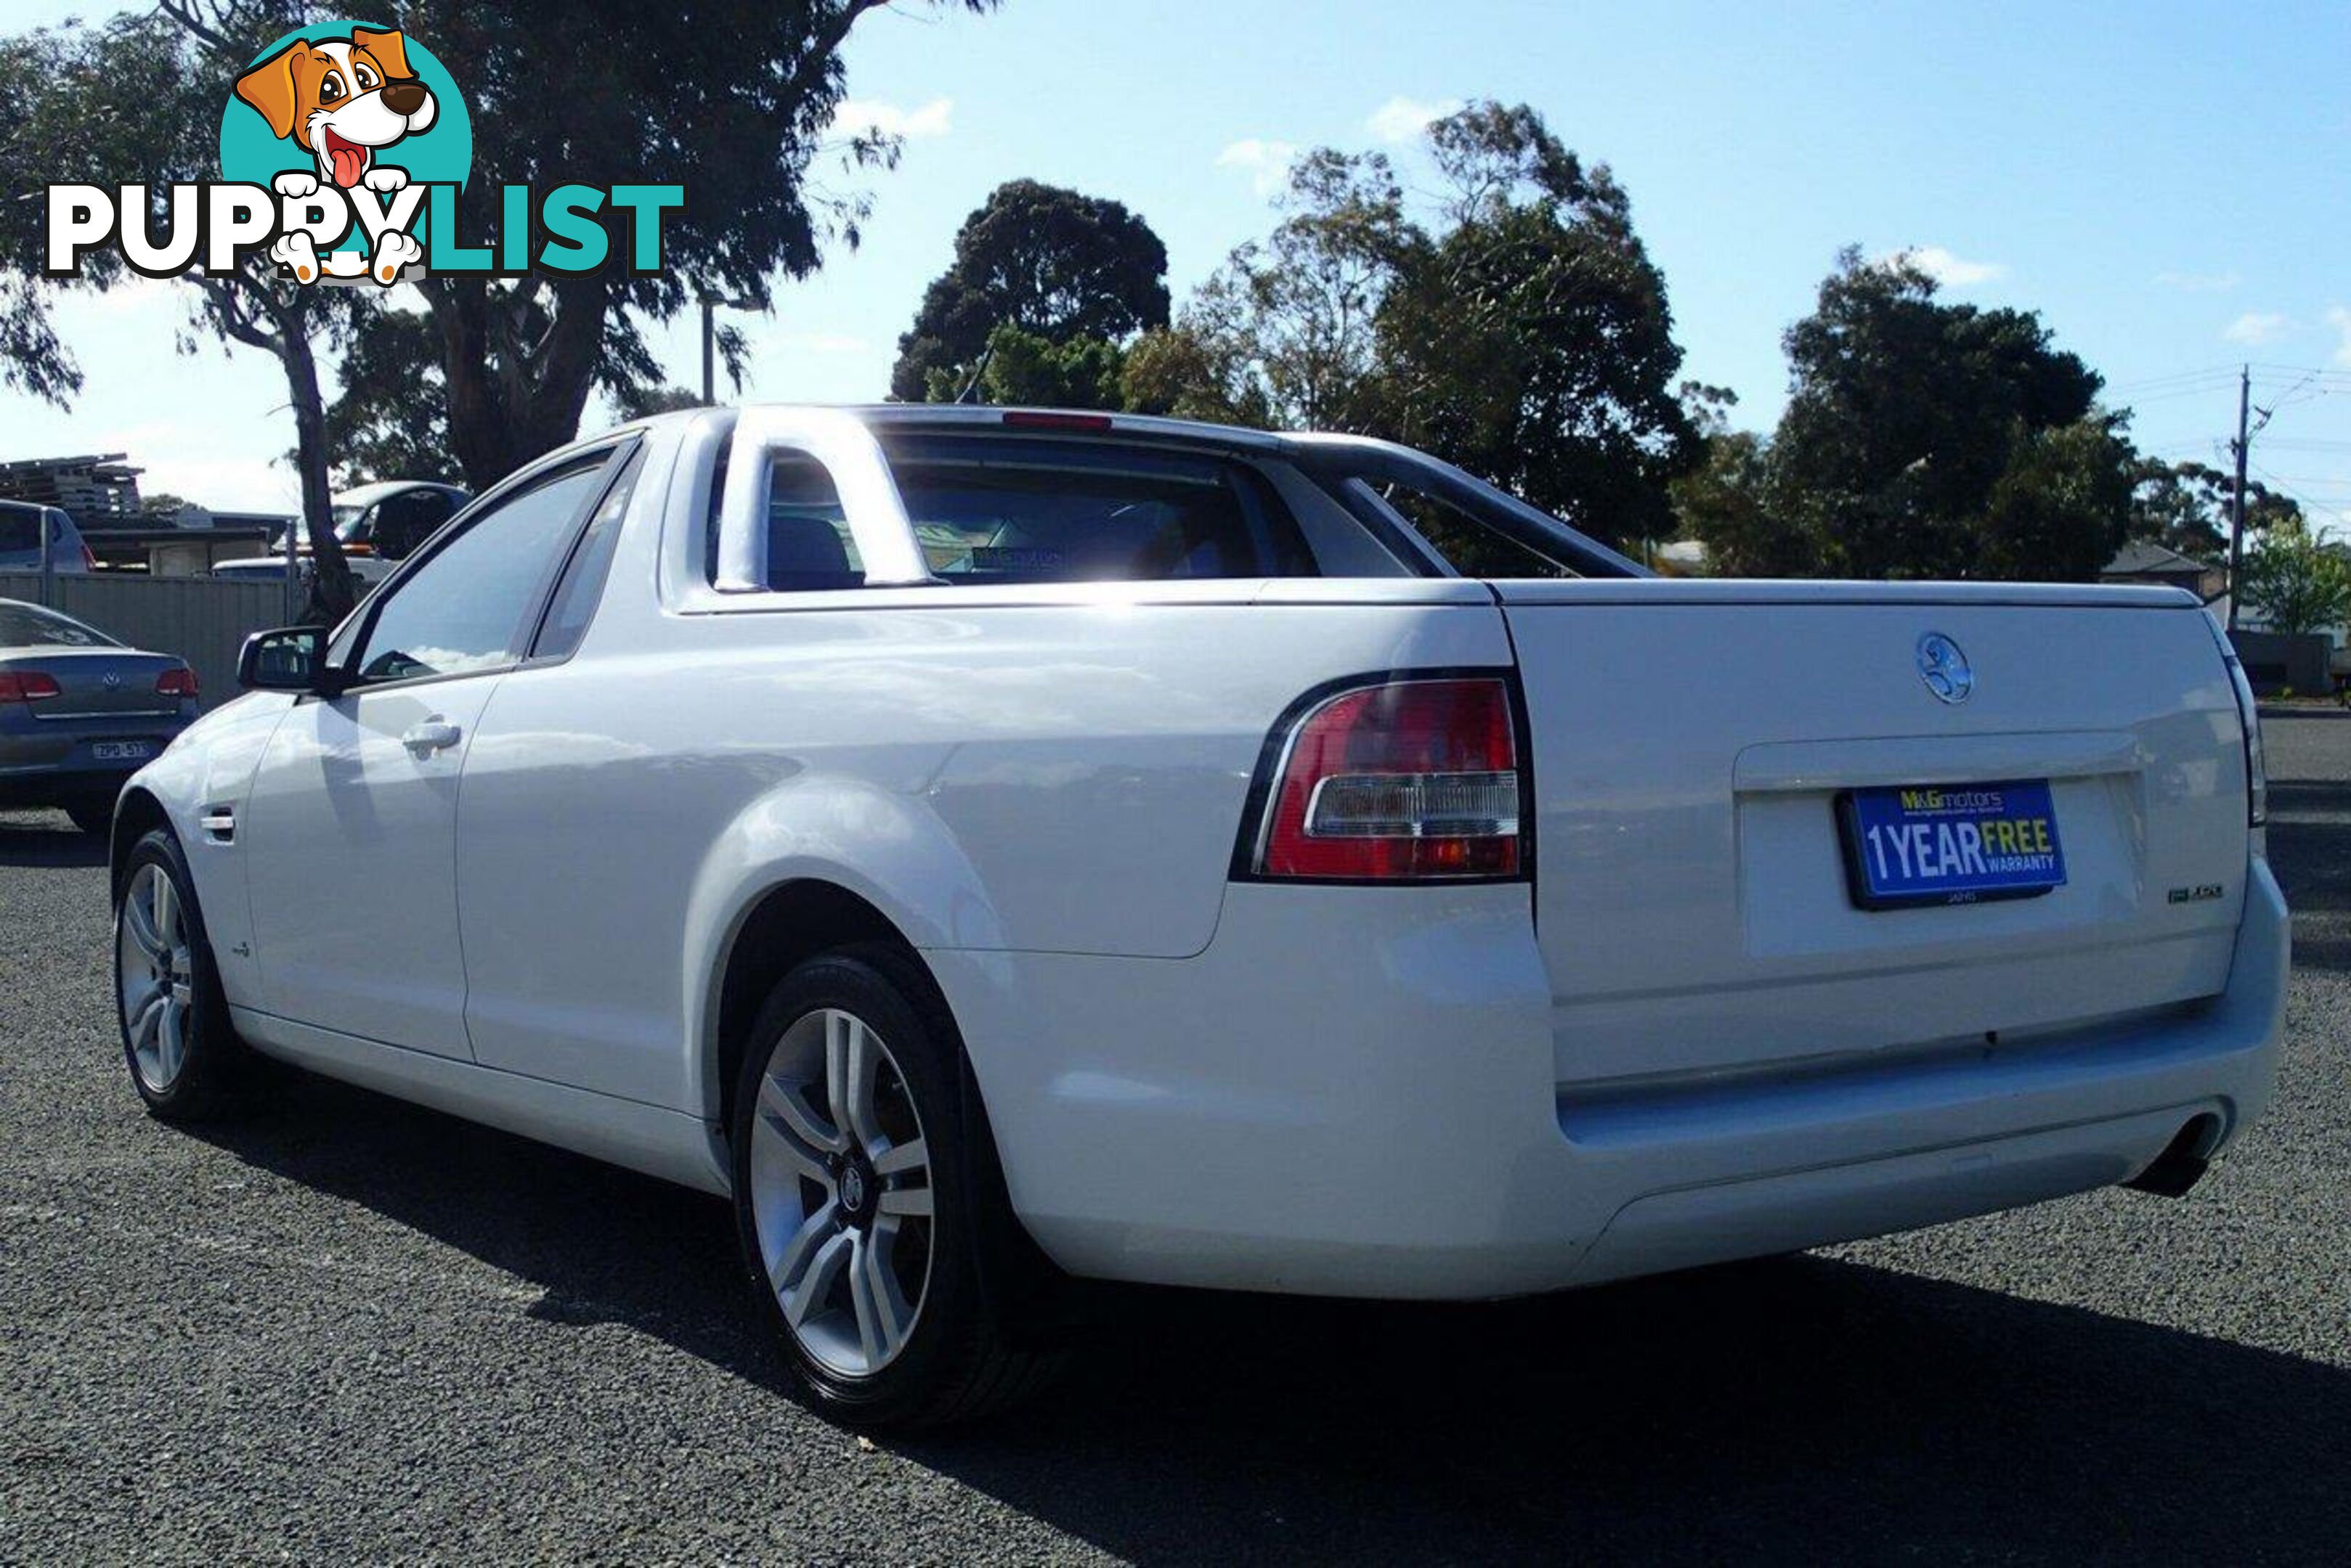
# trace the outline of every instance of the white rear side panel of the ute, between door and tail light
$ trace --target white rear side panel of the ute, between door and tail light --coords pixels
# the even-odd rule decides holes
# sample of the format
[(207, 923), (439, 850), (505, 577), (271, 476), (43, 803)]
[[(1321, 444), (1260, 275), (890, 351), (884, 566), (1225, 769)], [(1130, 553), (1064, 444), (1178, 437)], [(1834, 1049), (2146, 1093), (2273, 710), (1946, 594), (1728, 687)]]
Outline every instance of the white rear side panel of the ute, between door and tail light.
[[(632, 614), (609, 595), (578, 658), (501, 682), (468, 755), (477, 1056), (703, 1110), (726, 945), (799, 877), (865, 896), (917, 947), (1201, 952), (1293, 698), (1509, 661), (1467, 585), (1436, 604), (1258, 590), (809, 595), (766, 614)], [(1018, 1041), (971, 1048), (987, 1079), (990, 1051)]]

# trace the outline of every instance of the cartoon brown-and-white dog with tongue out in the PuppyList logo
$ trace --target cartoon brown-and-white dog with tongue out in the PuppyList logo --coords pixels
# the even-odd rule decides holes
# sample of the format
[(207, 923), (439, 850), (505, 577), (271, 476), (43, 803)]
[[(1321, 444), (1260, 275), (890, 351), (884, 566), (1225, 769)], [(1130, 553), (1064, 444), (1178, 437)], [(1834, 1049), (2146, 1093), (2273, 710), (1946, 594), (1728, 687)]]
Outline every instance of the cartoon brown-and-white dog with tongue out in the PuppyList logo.
[[(294, 141), (317, 160), (315, 176), (289, 172), (270, 181), (289, 197), (315, 193), (322, 179), (343, 190), (400, 190), (409, 183), (409, 172), (379, 162), (376, 153), (430, 129), (440, 113), (433, 89), (409, 71), (407, 40), (397, 31), (360, 26), (350, 38), (289, 42), (237, 78), (237, 96), (270, 122), (273, 136)], [(270, 256), (294, 268), (301, 282), (320, 275), (308, 233), (282, 237)], [(388, 284), (402, 266), (421, 259), (423, 247), (414, 237), (388, 230), (367, 259), (367, 270)]]

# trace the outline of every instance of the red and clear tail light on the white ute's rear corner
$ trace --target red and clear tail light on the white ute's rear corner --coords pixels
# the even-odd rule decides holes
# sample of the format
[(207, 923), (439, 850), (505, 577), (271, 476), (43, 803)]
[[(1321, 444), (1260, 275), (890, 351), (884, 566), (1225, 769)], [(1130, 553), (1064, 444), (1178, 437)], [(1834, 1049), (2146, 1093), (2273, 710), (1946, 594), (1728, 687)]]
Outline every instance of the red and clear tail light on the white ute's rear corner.
[(1274, 743), (1244, 875), (1310, 882), (1526, 875), (1526, 776), (1500, 677), (1352, 686), (1305, 705)]

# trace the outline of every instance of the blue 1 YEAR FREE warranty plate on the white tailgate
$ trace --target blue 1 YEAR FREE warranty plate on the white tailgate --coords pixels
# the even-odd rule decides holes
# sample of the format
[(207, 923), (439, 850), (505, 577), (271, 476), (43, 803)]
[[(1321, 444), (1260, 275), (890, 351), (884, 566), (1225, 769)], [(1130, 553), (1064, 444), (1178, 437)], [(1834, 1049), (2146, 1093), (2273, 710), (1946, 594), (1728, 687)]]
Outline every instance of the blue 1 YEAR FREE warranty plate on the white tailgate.
[(1850, 790), (1846, 884), (1864, 910), (2034, 898), (2064, 886), (2045, 778)]

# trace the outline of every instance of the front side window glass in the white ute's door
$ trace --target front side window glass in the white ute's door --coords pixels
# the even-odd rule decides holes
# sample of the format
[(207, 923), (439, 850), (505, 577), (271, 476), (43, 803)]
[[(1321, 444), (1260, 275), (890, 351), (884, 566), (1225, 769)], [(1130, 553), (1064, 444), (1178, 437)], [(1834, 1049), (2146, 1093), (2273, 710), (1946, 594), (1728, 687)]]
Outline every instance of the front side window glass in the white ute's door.
[(611, 454), (562, 468), (484, 510), (393, 583), (360, 639), (357, 679), (463, 675), (513, 663)]

